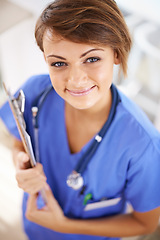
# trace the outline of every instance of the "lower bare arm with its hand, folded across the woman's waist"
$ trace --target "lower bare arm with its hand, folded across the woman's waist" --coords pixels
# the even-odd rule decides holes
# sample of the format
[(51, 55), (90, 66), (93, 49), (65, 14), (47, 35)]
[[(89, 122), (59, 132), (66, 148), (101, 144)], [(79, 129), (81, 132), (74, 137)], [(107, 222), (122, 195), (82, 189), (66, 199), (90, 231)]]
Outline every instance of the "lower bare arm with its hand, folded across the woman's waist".
[(46, 208), (37, 208), (37, 195), (29, 196), (26, 217), (43, 227), (61, 233), (95, 235), (106, 237), (130, 237), (155, 231), (160, 216), (160, 207), (148, 212), (133, 211), (96, 219), (70, 219), (64, 216), (59, 203), (48, 185), (45, 185)]

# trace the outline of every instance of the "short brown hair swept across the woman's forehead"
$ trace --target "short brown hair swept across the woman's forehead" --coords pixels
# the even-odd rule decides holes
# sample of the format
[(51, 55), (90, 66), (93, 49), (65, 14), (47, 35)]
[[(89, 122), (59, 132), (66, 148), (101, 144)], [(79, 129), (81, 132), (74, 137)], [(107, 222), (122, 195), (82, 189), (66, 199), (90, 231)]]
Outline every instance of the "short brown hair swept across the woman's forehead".
[(123, 74), (127, 74), (131, 37), (114, 0), (55, 0), (44, 9), (35, 27), (42, 51), (47, 29), (73, 42), (110, 46), (118, 54)]

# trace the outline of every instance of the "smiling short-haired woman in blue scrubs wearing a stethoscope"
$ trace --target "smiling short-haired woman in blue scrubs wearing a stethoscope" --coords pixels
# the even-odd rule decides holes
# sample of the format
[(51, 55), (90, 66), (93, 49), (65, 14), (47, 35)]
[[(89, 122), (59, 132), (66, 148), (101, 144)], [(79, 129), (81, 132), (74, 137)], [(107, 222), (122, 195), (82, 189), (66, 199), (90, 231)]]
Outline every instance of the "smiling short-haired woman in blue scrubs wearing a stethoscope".
[(160, 215), (160, 134), (112, 84), (114, 64), (126, 75), (131, 48), (115, 1), (55, 0), (39, 17), (35, 36), (49, 75), (33, 76), (21, 87), (26, 129), (39, 159), (34, 168), (9, 105), (0, 110), (15, 137), (28, 238), (98, 240), (153, 232)]

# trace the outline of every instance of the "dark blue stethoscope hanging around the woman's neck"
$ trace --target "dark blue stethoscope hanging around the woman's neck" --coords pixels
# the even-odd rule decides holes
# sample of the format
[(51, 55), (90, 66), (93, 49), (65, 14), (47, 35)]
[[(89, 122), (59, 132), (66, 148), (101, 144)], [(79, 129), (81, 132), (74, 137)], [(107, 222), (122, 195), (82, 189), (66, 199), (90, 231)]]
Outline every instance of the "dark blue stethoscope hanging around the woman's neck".
[[(33, 121), (34, 138), (35, 138), (35, 156), (36, 156), (37, 162), (39, 162), (38, 117), (39, 117), (42, 105), (51, 90), (53, 90), (53, 87), (49, 85), (40, 95), (36, 97), (36, 99), (32, 104), (32, 121)], [(97, 151), (100, 143), (102, 142), (115, 116), (116, 107), (120, 102), (120, 97), (116, 87), (113, 84), (111, 86), (111, 92), (112, 92), (112, 99), (114, 100), (112, 101), (112, 106), (111, 106), (111, 110), (110, 110), (107, 121), (104, 123), (101, 130), (94, 137), (94, 140), (91, 146), (84, 153), (84, 155), (79, 159), (75, 169), (67, 177), (67, 180), (66, 180), (67, 185), (73, 188), (74, 190), (78, 190), (83, 187), (84, 185), (83, 173), (86, 167), (88, 166), (90, 160), (92, 159), (93, 155)]]

